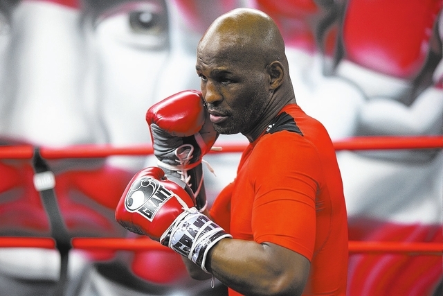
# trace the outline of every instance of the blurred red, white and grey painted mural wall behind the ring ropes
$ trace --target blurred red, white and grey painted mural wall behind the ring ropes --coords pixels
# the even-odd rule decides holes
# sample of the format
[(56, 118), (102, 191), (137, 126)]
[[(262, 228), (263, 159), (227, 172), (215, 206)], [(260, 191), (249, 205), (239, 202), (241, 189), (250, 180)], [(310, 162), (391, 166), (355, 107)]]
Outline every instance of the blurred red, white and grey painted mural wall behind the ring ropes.
[[(237, 7), (280, 26), (298, 104), (333, 141), (443, 134), (442, 0), (0, 0), (0, 145), (150, 145), (145, 112), (199, 89), (195, 47)], [(241, 135), (221, 143), (246, 143)], [(0, 147), (1, 148), (1, 147)], [(442, 242), (443, 152), (337, 152), (351, 241)], [(239, 153), (206, 160), (209, 202)], [(178, 254), (75, 250), (73, 237), (138, 238), (114, 220), (127, 182), (153, 157), (0, 159), (0, 295), (226, 295)], [(33, 184), (52, 171), (55, 187)], [(42, 196), (41, 196), (42, 195)], [(57, 204), (55, 204), (55, 200)], [(46, 202), (46, 205), (45, 205)], [(55, 206), (54, 206), (55, 204)], [(58, 225), (58, 226), (57, 226)], [(67, 242), (67, 243), (66, 243)], [(442, 257), (351, 254), (347, 295), (442, 295)], [(333, 267), (332, 267), (333, 268)]]

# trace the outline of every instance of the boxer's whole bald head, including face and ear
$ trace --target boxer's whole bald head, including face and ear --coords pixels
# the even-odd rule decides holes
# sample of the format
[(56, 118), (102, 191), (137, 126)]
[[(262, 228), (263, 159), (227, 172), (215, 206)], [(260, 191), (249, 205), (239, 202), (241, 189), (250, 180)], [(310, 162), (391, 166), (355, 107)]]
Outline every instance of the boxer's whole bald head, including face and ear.
[(284, 105), (296, 103), (282, 35), (259, 10), (239, 8), (217, 18), (197, 46), (195, 69), (221, 134), (241, 132), (252, 142)]

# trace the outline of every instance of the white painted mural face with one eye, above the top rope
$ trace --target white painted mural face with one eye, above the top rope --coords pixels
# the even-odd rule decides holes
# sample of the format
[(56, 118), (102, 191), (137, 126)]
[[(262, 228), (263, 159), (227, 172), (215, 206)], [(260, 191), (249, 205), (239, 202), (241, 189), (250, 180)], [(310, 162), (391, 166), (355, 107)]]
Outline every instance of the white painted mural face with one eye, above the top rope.
[(171, 49), (165, 1), (75, 2), (0, 1), (3, 143), (148, 141)]

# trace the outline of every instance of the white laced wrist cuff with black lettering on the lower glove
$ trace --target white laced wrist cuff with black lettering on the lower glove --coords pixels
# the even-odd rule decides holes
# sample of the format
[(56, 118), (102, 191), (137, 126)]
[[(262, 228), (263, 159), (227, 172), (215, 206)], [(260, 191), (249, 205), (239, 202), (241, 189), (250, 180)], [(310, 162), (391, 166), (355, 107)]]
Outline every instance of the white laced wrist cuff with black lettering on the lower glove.
[(206, 256), (221, 238), (232, 238), (223, 228), (201, 214), (195, 207), (186, 209), (160, 238), (162, 245), (188, 257), (207, 273)]

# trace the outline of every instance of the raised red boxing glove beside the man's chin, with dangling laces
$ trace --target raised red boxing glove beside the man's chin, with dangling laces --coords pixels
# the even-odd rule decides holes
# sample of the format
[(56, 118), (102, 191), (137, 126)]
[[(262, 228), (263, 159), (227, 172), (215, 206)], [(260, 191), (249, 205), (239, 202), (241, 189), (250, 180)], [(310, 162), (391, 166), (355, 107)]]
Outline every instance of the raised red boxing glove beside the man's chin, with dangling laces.
[(154, 155), (167, 175), (179, 177), (195, 193), (197, 209), (206, 207), (202, 157), (218, 133), (209, 120), (204, 98), (196, 90), (179, 92), (156, 103), (146, 113)]

